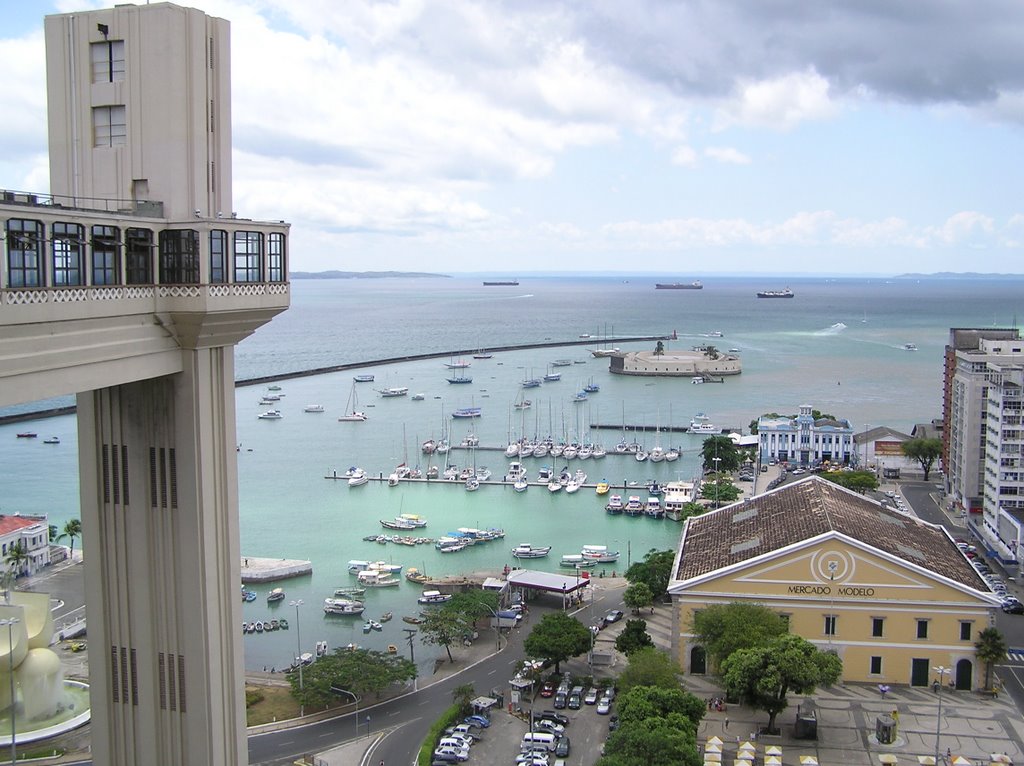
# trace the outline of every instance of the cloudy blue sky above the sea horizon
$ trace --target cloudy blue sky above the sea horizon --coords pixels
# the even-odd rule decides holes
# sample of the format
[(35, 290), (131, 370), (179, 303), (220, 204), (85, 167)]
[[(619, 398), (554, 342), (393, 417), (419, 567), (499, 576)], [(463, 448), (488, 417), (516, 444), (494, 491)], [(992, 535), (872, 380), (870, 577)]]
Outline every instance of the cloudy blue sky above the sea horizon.
[[(48, 189), (0, 0), (0, 186)], [(292, 270), (1024, 272), (1018, 0), (196, 0)]]

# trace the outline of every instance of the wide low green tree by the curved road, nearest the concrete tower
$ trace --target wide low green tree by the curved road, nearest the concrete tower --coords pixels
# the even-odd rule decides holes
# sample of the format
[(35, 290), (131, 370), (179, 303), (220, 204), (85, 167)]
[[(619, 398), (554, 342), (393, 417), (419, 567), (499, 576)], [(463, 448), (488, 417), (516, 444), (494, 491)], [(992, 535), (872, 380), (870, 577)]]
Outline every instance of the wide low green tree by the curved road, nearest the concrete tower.
[(416, 666), (404, 657), (347, 648), (335, 649), (334, 653), (303, 668), (301, 688), (298, 672), (288, 674), (292, 695), (300, 705), (309, 708), (323, 708), (335, 701), (338, 695), (332, 687), (362, 697), (367, 694), (379, 695), (391, 684), (414, 678)]

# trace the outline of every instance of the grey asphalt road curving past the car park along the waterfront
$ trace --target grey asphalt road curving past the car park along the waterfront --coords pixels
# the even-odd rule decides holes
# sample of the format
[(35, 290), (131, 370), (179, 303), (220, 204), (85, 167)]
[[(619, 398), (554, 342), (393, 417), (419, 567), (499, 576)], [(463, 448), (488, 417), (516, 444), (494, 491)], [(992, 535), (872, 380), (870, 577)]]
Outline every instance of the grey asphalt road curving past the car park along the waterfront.
[[(610, 592), (595, 590), (593, 607), (588, 602), (581, 611), (593, 608), (594, 614), (604, 614), (608, 609), (621, 606), (622, 589), (616, 588)], [(530, 611), (531, 614), (539, 615), (550, 610), (540, 606)], [(508, 680), (515, 674), (516, 662), (523, 657), (522, 642), (527, 634), (526, 625), (513, 630), (507, 637), (507, 645), (503, 637), (500, 652), (453, 676), (428, 683), (417, 691), (360, 709), (358, 721), (355, 713), (349, 713), (327, 721), (251, 736), (249, 763), (254, 766), (292, 764), (301, 755), (323, 753), (350, 741), (355, 737), (356, 726), (359, 735), (366, 737), (368, 716), (370, 734), (381, 730), (385, 733), (371, 744), (364, 763), (376, 764), (381, 760), (388, 764), (413, 763), (431, 725), (440, 712), (452, 705), (452, 691), (457, 686), (472, 684), (477, 694), (487, 694), (493, 688), (506, 687)], [(487, 632), (481, 633), (478, 640), (488, 640)]]

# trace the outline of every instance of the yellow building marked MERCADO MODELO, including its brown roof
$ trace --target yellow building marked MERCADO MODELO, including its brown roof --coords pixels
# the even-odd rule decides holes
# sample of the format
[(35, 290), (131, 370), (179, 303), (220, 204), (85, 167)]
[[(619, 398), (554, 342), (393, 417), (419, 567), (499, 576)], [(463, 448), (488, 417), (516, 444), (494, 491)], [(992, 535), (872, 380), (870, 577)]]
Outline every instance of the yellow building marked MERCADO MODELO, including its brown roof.
[(696, 611), (756, 602), (843, 659), (843, 679), (982, 682), (974, 643), (999, 599), (941, 526), (812, 476), (686, 521), (669, 594), (673, 654), (707, 670)]

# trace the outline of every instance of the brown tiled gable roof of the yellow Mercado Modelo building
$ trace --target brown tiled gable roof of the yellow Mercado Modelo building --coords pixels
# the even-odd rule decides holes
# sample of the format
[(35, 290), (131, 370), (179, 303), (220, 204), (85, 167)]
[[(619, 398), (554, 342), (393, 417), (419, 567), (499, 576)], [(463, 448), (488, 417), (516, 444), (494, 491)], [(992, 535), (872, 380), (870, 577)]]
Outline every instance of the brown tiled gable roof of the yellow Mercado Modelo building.
[(819, 476), (688, 519), (676, 580), (708, 574), (829, 531), (988, 591), (941, 527), (887, 510)]

